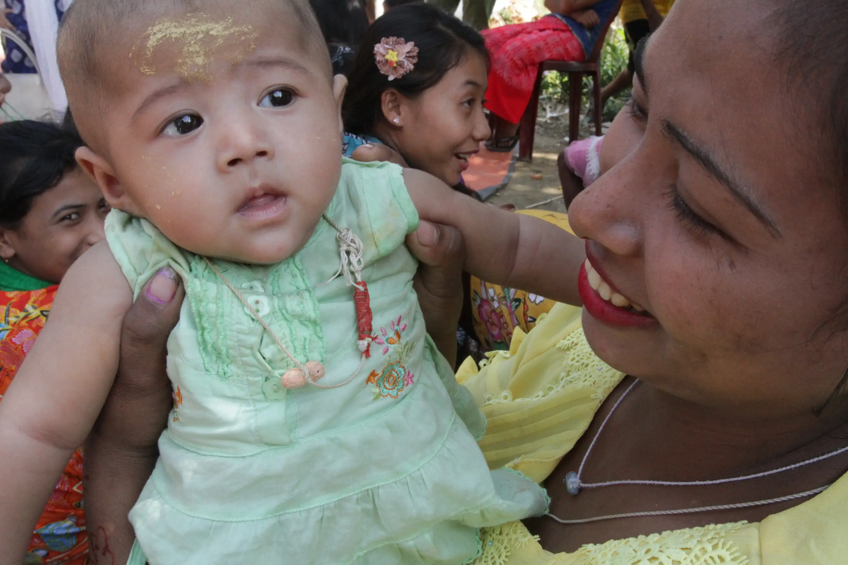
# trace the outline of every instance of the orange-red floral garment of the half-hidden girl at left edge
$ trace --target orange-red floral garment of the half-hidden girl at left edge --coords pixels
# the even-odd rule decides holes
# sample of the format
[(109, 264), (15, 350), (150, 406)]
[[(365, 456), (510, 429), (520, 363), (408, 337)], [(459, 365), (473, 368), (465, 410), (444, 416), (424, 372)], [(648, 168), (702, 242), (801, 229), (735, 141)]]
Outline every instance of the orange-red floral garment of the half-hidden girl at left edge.
[[(59, 286), (39, 291), (0, 291), (0, 401), (44, 327)], [(25, 565), (85, 565), (86, 517), (82, 508), (82, 450), (64, 468), (36, 523)]]

